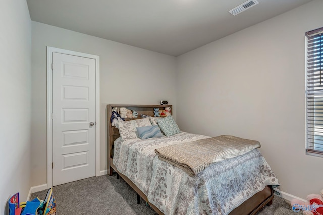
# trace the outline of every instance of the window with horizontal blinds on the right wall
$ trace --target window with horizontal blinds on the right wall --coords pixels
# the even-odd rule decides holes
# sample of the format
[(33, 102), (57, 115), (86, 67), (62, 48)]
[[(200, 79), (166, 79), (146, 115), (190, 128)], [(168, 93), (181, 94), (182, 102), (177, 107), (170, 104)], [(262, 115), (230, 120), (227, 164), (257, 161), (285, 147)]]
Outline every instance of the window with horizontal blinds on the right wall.
[(306, 38), (306, 150), (323, 155), (323, 28)]

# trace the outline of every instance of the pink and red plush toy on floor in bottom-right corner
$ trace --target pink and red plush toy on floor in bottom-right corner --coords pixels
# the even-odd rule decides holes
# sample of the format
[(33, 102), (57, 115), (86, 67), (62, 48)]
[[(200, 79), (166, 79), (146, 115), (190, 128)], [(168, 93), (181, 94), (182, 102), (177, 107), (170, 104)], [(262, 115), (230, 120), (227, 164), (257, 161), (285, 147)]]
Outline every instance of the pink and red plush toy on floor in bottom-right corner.
[(298, 199), (291, 200), (291, 206), (294, 212), (303, 210), (304, 215), (323, 215), (323, 190), (319, 194), (310, 194), (306, 197), (307, 201)]

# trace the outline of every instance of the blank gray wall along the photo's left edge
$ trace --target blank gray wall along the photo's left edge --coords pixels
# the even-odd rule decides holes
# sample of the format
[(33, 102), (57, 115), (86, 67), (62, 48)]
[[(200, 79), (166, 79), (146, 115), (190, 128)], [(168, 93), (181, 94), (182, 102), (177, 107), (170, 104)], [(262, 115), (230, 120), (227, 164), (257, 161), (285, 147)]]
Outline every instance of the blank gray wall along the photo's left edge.
[(31, 186), (31, 21), (25, 0), (0, 2), (0, 214)]

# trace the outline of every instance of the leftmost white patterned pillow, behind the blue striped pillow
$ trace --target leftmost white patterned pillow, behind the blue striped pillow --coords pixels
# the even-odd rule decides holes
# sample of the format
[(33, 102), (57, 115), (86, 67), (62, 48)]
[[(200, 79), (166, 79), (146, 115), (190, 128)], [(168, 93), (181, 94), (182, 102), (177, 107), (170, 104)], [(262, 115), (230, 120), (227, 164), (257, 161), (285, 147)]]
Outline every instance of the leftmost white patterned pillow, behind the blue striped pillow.
[(150, 120), (148, 118), (129, 120), (126, 122), (119, 122), (118, 129), (121, 139), (136, 139), (139, 138), (136, 127), (151, 126)]

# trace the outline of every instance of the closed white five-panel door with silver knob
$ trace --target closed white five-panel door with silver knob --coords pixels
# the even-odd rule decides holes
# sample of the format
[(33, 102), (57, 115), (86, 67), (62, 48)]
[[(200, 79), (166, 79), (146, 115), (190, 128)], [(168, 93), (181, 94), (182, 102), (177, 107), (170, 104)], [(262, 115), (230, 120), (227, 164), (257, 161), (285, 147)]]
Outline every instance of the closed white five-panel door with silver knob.
[(52, 57), (55, 186), (95, 176), (95, 59)]

